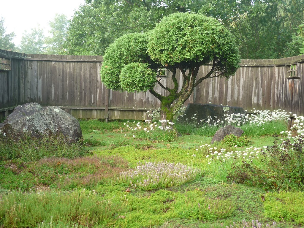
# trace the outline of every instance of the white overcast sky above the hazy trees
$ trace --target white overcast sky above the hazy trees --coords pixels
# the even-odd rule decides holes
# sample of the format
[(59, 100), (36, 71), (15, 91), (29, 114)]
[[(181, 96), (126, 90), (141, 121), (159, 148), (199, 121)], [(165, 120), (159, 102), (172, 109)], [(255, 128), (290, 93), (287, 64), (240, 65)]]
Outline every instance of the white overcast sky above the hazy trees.
[(0, 17), (5, 20), (6, 33), (15, 32), (13, 42), (18, 46), (24, 30), (30, 32), (39, 24), (45, 36), (48, 36), (49, 22), (54, 20), (56, 13), (71, 19), (78, 6), (84, 3), (85, 0), (3, 0), (0, 3)]

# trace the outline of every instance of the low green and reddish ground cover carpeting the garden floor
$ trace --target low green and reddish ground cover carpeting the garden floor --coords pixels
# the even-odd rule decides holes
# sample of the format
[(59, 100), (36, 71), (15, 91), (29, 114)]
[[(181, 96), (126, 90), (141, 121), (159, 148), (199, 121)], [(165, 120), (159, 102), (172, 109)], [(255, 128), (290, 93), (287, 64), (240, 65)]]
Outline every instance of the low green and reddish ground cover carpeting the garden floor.
[[(262, 188), (227, 183), (227, 174), (241, 158), (208, 164), (206, 155), (215, 156), (220, 149), (237, 154), (246, 147), (215, 143), (204, 150), (200, 146), (210, 144), (212, 137), (183, 134), (173, 142), (159, 142), (134, 139), (133, 131), (121, 122), (80, 124), (85, 142), (82, 157), (0, 161), (1, 228), (226, 227), (233, 223), (243, 227), (244, 219), (249, 223), (258, 219), (264, 225), (275, 220), (279, 227), (302, 224), (267, 214), (264, 203), (271, 197)], [(253, 147), (271, 146), (274, 141), (271, 136), (248, 139)], [(120, 180), (120, 173), (134, 171), (139, 162), (164, 161), (200, 172), (184, 184), (155, 188), (138, 188), (130, 180)], [(263, 165), (261, 159), (253, 163)]]

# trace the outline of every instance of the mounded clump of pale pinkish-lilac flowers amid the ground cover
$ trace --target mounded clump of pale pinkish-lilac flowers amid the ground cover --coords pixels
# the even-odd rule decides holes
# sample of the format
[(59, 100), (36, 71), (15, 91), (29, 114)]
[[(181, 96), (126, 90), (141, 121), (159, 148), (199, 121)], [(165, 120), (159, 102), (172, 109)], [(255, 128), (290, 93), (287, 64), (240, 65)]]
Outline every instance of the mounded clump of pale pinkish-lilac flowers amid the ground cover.
[(145, 162), (138, 163), (135, 169), (120, 173), (120, 179), (130, 182), (132, 187), (143, 190), (166, 188), (182, 185), (195, 180), (200, 174), (199, 169), (181, 163)]

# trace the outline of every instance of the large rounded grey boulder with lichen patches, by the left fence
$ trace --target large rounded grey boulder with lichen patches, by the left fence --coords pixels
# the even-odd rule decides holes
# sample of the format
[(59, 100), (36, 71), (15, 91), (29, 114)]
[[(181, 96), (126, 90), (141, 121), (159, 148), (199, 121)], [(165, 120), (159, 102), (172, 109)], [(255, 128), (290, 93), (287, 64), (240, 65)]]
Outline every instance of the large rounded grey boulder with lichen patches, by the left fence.
[(82, 137), (80, 124), (73, 116), (60, 107), (49, 106), (43, 109), (38, 103), (27, 103), (17, 106), (3, 123), (0, 130), (8, 134), (8, 129), (17, 133), (58, 134), (66, 136), (71, 142), (77, 142)]

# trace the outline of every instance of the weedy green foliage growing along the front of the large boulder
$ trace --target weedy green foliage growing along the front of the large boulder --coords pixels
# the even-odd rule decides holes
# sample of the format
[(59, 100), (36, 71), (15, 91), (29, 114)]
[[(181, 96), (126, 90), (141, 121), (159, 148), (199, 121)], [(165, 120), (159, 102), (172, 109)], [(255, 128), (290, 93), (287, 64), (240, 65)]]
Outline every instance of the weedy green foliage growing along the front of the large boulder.
[(41, 135), (0, 133), (0, 161), (21, 159), (37, 161), (42, 157), (76, 157), (84, 155), (81, 142), (70, 143), (62, 134)]

